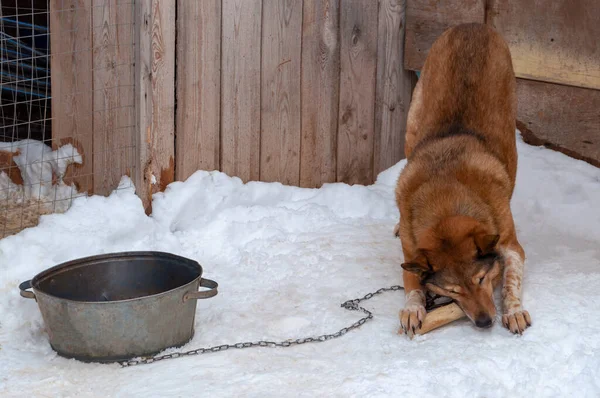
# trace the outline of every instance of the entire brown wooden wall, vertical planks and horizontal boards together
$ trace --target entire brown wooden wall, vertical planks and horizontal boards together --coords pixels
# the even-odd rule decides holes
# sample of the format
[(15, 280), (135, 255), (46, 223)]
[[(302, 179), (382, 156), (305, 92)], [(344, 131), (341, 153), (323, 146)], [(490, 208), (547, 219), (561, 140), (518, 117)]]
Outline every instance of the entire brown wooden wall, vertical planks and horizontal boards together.
[(403, 157), (431, 43), (505, 37), (526, 139), (600, 165), (595, 0), (50, 0), (54, 146), (68, 179), (151, 195), (196, 170), (304, 187), (372, 183)]

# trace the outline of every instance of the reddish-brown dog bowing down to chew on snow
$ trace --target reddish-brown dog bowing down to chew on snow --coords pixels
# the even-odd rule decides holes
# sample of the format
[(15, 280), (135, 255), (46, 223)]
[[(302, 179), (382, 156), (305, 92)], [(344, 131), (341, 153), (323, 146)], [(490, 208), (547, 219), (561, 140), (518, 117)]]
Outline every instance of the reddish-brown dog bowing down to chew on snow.
[(426, 289), (454, 299), (478, 327), (492, 326), (501, 280), (502, 323), (519, 334), (531, 325), (521, 307), (525, 253), (510, 210), (515, 84), (508, 46), (485, 25), (448, 29), (425, 61), (396, 188), (406, 290), (400, 323), (409, 336), (425, 317)]

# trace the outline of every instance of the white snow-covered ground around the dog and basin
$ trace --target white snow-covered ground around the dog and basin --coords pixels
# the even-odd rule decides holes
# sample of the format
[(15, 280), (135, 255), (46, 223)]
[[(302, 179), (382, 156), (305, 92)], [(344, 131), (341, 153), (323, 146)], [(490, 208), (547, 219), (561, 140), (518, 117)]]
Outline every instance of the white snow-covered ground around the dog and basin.
[(0, 396), (597, 397), (600, 170), (521, 142), (519, 153), (513, 209), (533, 318), (522, 337), (459, 321), (409, 341), (396, 334), (403, 295), (390, 292), (366, 304), (372, 322), (321, 344), (127, 369), (56, 356), (17, 285), (81, 256), (153, 249), (198, 260), (219, 295), (198, 303), (185, 350), (336, 331), (359, 317), (341, 302), (401, 281), (392, 229), (402, 162), (373, 186), (319, 190), (197, 172), (157, 195), (151, 218), (122, 189), (0, 241)]

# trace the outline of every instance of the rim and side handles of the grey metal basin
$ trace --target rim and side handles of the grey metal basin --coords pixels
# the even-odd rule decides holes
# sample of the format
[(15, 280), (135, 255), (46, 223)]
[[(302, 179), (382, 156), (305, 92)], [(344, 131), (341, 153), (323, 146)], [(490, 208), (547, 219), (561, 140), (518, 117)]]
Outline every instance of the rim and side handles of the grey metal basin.
[[(89, 266), (90, 262), (94, 262), (97, 260), (109, 260), (109, 259), (117, 259), (117, 258), (127, 258), (127, 257), (139, 257), (139, 256), (144, 256), (144, 257), (170, 257), (172, 259), (176, 259), (182, 262), (186, 262), (186, 263), (194, 263), (195, 266), (198, 267), (198, 276), (194, 279), (192, 279), (190, 282), (174, 287), (172, 289), (169, 290), (165, 290), (164, 292), (160, 292), (157, 294), (150, 294), (150, 295), (146, 295), (146, 296), (141, 296), (141, 297), (135, 297), (135, 298), (130, 298), (130, 299), (126, 299), (126, 300), (109, 300), (109, 301), (78, 301), (78, 300), (70, 300), (70, 299), (66, 299), (66, 298), (62, 298), (62, 297), (58, 297), (55, 296), (53, 294), (49, 294), (44, 292), (43, 290), (39, 290), (36, 288), (36, 285), (41, 281), (41, 279), (44, 279), (46, 277), (49, 277), (50, 275), (54, 275), (54, 274), (58, 274), (60, 273), (59, 271), (64, 271), (64, 270), (72, 270), (72, 269), (76, 269), (76, 268), (80, 268), (80, 267), (87, 267)], [(50, 297), (56, 300), (62, 300), (62, 301), (66, 301), (66, 302), (70, 302), (70, 303), (78, 303), (78, 304), (98, 304), (98, 305), (111, 305), (111, 304), (120, 304), (120, 303), (127, 303), (127, 302), (132, 302), (132, 301), (138, 301), (138, 300), (143, 300), (143, 299), (149, 299), (149, 298), (155, 298), (155, 297), (160, 297), (163, 295), (167, 295), (172, 293), (173, 291), (180, 289), (184, 286), (189, 286), (192, 285), (193, 283), (195, 283), (198, 279), (200, 279), (201, 282), (201, 286), (203, 287), (209, 287), (212, 290), (214, 290), (214, 292), (216, 293), (216, 282), (211, 281), (209, 279), (203, 279), (202, 278), (202, 273), (203, 273), (203, 269), (202, 266), (200, 265), (200, 263), (198, 263), (197, 261), (182, 257), (182, 256), (178, 256), (176, 254), (172, 254), (172, 253), (167, 253), (167, 252), (161, 252), (161, 251), (127, 251), (127, 252), (113, 252), (113, 253), (104, 253), (104, 254), (98, 254), (98, 255), (94, 255), (94, 256), (88, 256), (88, 257), (82, 257), (82, 258), (78, 258), (75, 260), (70, 260), (70, 261), (66, 261), (64, 263), (60, 263), (57, 264), (51, 268), (47, 268), (44, 271), (39, 272), (38, 274), (36, 274), (33, 278), (31, 278), (30, 280), (27, 280), (25, 282), (22, 282), (19, 285), (19, 290), (21, 292), (21, 296), (25, 297), (25, 298), (32, 298), (32, 299), (36, 299), (35, 296), (37, 294), (40, 294), (42, 296), (46, 296), (46, 297)], [(203, 285), (202, 282), (207, 283), (206, 285)], [(215, 286), (212, 286), (212, 284), (214, 284)], [(33, 292), (28, 291), (28, 289), (32, 289)], [(208, 293), (210, 291), (206, 291), (206, 292), (199, 292), (201, 293)], [(209, 296), (207, 296), (206, 298), (208, 298)], [(186, 300), (184, 298), (184, 300)], [(37, 299), (36, 299), (37, 301)]]

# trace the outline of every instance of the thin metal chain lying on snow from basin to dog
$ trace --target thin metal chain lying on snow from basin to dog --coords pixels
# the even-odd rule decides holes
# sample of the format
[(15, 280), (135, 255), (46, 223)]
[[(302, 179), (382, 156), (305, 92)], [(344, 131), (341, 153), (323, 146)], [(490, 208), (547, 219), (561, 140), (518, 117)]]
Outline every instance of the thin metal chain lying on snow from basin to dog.
[[(223, 344), (223, 345), (217, 345), (217, 346), (208, 347), (208, 348), (198, 348), (195, 350), (190, 350), (190, 351), (185, 351), (185, 352), (174, 352), (172, 354), (166, 354), (166, 355), (160, 355), (160, 356), (154, 356), (154, 357), (146, 357), (146, 358), (140, 358), (140, 359), (132, 359), (129, 361), (121, 362), (121, 366), (129, 367), (129, 366), (136, 366), (136, 365), (144, 365), (144, 364), (154, 363), (154, 362), (158, 362), (158, 361), (163, 361), (165, 359), (181, 358), (181, 357), (192, 356), (192, 355), (200, 355), (200, 354), (207, 354), (207, 353), (211, 353), (211, 352), (225, 351), (230, 348), (243, 349), (243, 348), (250, 348), (250, 347), (291, 347), (291, 346), (306, 344), (306, 343), (322, 343), (324, 341), (328, 341), (331, 339), (341, 337), (351, 330), (358, 329), (359, 327), (364, 325), (366, 322), (373, 319), (373, 313), (371, 311), (359, 306), (358, 304), (360, 302), (369, 300), (370, 298), (377, 296), (378, 294), (381, 294), (383, 292), (389, 292), (389, 291), (401, 290), (401, 289), (404, 289), (404, 288), (402, 286), (398, 286), (398, 285), (390, 286), (390, 287), (383, 287), (383, 288), (377, 290), (376, 292), (366, 294), (362, 298), (348, 300), (348, 301), (342, 303), (342, 305), (341, 305), (342, 308), (345, 308), (349, 311), (360, 311), (363, 314), (365, 314), (366, 316), (360, 318), (358, 321), (354, 322), (352, 325), (342, 328), (339, 331), (332, 333), (332, 334), (323, 334), (321, 336), (316, 336), (316, 337), (304, 337), (304, 338), (299, 338), (299, 339), (295, 339), (295, 340), (289, 339), (289, 340), (284, 340), (284, 341), (280, 341), (280, 342), (261, 340), (261, 341), (256, 341), (256, 342)], [(429, 306), (429, 304), (430, 303), (428, 303), (428, 306)]]

